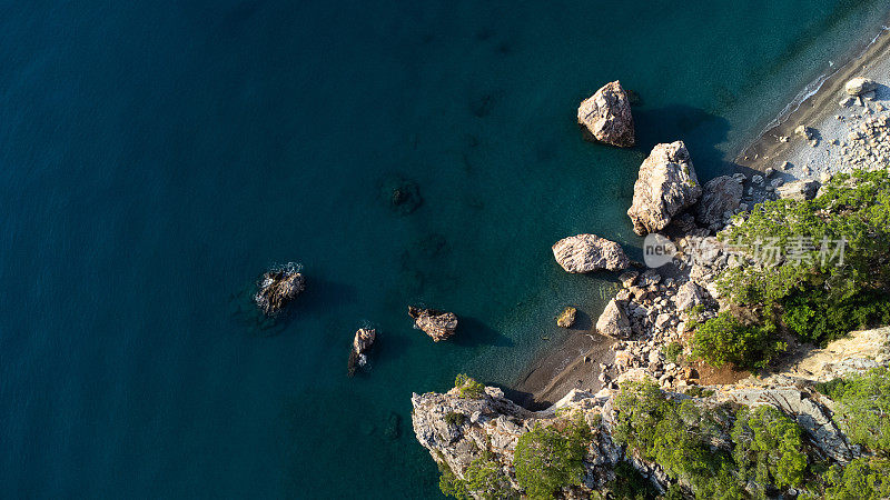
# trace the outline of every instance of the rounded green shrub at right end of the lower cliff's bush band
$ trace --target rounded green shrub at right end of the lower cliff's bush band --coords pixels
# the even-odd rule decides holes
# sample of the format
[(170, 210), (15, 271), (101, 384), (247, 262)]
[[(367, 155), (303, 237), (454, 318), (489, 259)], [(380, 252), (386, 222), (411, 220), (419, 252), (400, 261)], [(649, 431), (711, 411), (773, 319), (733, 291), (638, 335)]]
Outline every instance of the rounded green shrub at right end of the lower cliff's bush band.
[(800, 427), (770, 406), (742, 408), (732, 429), (733, 458), (743, 478), (761, 488), (797, 487), (807, 471)]

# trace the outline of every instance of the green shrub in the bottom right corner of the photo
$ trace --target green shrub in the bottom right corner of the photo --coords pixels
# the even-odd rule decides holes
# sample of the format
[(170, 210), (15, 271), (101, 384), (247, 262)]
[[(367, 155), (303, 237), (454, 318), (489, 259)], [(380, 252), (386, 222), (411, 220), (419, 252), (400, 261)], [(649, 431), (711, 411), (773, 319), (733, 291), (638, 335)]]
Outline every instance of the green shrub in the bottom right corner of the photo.
[(858, 458), (847, 467), (833, 466), (827, 474), (825, 500), (890, 498), (890, 461)]

